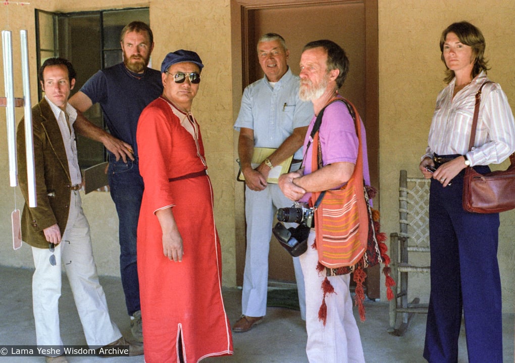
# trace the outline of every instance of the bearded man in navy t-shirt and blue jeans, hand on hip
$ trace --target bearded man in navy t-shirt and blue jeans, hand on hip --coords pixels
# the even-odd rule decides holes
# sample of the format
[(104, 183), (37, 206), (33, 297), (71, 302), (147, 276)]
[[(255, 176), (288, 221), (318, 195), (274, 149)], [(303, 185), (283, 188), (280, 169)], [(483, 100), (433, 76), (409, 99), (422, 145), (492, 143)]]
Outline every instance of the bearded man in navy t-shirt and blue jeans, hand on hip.
[[(74, 128), (78, 134), (100, 141), (108, 150), (111, 197), (119, 220), (120, 273), (131, 332), (143, 342), (140, 285), (136, 265), (136, 228), (143, 195), (138, 167), (136, 127), (141, 111), (161, 95), (161, 72), (148, 68), (154, 46), (152, 30), (143, 22), (132, 22), (121, 34), (124, 61), (98, 71), (73, 97), (77, 109)], [(99, 103), (110, 133), (82, 116)]]

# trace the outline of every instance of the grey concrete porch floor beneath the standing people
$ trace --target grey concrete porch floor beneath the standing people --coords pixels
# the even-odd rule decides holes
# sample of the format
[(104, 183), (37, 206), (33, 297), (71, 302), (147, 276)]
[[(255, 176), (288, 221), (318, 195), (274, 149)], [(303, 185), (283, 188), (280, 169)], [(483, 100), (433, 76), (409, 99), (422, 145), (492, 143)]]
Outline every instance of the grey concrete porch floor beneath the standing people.
[[(31, 304), (31, 275), (29, 269), (0, 266), (0, 354), (5, 345), (33, 345), (36, 343)], [(100, 277), (106, 292), (107, 302), (113, 319), (122, 334), (130, 337), (129, 319), (125, 312), (124, 295), (119, 278)], [(241, 290), (227, 289), (224, 292), (227, 313), (231, 323), (241, 315)], [(60, 300), (61, 336), (66, 345), (85, 344), (84, 335), (75, 309), (67, 279), (63, 278)], [(388, 304), (385, 302), (365, 303), (367, 320), (359, 322), (367, 363), (418, 363), (422, 358), (425, 333), (425, 315), (417, 315), (403, 337), (391, 336), (388, 328)], [(356, 309), (354, 309), (356, 310)], [(513, 362), (514, 315), (503, 316), (504, 363)], [(234, 355), (207, 358), (207, 363), (306, 363), (306, 331), (299, 311), (269, 307), (265, 321), (247, 333), (233, 334)], [(68, 357), (71, 363), (109, 362), (140, 363), (138, 357)], [(44, 362), (42, 357), (1, 357), (2, 362)], [(462, 328), (459, 340), (458, 363), (466, 363), (467, 348)], [(322, 362), (320, 362), (322, 363)], [(485, 362), (487, 363), (487, 362)]]

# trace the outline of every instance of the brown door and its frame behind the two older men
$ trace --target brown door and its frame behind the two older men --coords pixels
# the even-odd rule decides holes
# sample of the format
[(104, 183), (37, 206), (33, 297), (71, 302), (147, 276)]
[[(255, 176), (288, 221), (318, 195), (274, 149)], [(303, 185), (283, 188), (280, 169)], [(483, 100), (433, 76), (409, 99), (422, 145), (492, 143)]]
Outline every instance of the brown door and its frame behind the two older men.
[[(247, 86), (263, 77), (256, 44), (262, 34), (276, 32), (284, 37), (290, 51), (288, 65), (299, 74), (303, 46), (310, 41), (330, 39), (347, 53), (350, 71), (340, 94), (348, 98), (361, 114), (367, 129), (371, 183), (378, 185), (377, 137), (377, 2), (373, 1), (254, 1), (242, 5), (242, 52), (244, 81)], [(377, 203), (377, 202), (376, 202)], [(376, 205), (377, 207), (377, 205)], [(295, 282), (291, 257), (272, 236), (269, 278)], [(369, 277), (374, 275), (369, 271)], [(379, 297), (377, 283), (369, 278), (369, 297)], [(377, 291), (374, 287), (377, 285)], [(373, 295), (373, 296), (371, 296)]]

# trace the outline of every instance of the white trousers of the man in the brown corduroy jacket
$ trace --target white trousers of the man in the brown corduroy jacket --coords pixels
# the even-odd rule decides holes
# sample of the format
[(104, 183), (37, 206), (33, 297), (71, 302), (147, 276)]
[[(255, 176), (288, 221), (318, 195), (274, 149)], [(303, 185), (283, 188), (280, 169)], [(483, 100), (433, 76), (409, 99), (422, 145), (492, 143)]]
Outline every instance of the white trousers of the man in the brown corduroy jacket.
[[(51, 255), (55, 255), (56, 266), (50, 264)], [(61, 265), (70, 282), (88, 345), (104, 346), (122, 336), (109, 317), (106, 296), (98, 282), (90, 225), (78, 191), (72, 191), (68, 223), (54, 253), (33, 247), (32, 256), (36, 267), (32, 275), (32, 306), (38, 345), (63, 345), (59, 332)]]

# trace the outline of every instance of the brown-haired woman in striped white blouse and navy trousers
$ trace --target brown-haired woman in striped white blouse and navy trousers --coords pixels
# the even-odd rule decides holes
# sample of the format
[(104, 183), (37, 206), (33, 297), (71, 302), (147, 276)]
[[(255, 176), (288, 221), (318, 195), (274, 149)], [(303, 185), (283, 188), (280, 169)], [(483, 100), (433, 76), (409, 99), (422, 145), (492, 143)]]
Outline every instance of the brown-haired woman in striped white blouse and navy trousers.
[[(488, 164), (501, 163), (515, 151), (515, 124), (501, 86), (487, 78), (485, 38), (478, 28), (468, 22), (451, 24), (442, 32), (440, 50), (448, 85), (437, 97), (419, 166), (425, 178), (432, 178), (431, 294), (424, 358), (457, 362), (463, 312), (469, 362), (501, 363), (499, 213), (467, 212), (461, 199), (467, 166), (484, 174), (490, 171)], [(483, 85), (469, 151), (475, 94)]]

